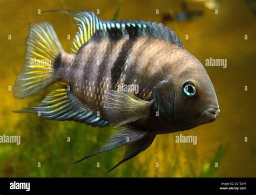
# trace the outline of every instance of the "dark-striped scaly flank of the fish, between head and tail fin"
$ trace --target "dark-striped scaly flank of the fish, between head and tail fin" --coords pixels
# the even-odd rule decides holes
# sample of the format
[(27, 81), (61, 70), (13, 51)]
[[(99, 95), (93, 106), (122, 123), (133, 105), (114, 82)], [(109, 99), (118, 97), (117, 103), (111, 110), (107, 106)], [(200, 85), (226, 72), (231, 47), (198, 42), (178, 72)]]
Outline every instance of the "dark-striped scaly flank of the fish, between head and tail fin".
[[(60, 81), (72, 86), (71, 90), (79, 100), (95, 112), (104, 114), (102, 105), (104, 94), (108, 90), (118, 90), (122, 85), (137, 85), (139, 90), (134, 95), (145, 101), (152, 100), (154, 89), (160, 85), (160, 82), (170, 77), (172, 72), (177, 72), (175, 69), (179, 63), (178, 55), (173, 55), (171, 58), (166, 58), (166, 55), (179, 50), (180, 53), (187, 53), (174, 44), (158, 39), (123, 38), (114, 44), (111, 39), (104, 39), (100, 43), (95, 41), (85, 45), (76, 55), (64, 53), (60, 56), (60, 65), (56, 73)], [(185, 58), (183, 57), (182, 60), (192, 60), (192, 56), (188, 53)], [(156, 110), (151, 111), (154, 117)], [(148, 124), (152, 117), (147, 117), (147, 120), (142, 119), (140, 123)], [(147, 127), (146, 130), (148, 131), (149, 128)], [(159, 128), (151, 129), (151, 131), (159, 130)]]

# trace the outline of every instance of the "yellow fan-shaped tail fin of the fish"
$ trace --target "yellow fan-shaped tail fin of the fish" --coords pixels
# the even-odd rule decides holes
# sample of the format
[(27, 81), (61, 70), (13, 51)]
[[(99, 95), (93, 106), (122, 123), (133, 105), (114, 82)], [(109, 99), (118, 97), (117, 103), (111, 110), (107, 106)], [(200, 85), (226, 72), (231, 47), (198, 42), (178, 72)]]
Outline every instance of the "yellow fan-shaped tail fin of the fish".
[(15, 81), (14, 96), (18, 99), (43, 90), (53, 82), (54, 65), (63, 51), (51, 24), (31, 23), (26, 40), (25, 64)]

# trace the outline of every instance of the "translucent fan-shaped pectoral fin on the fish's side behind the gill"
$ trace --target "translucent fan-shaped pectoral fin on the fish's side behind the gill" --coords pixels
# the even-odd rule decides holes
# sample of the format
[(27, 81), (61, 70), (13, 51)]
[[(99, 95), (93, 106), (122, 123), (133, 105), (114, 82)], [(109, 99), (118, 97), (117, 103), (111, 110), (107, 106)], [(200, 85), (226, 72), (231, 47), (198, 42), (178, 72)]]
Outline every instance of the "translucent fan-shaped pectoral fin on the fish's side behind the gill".
[(102, 103), (106, 119), (117, 127), (146, 117), (153, 100), (144, 101), (130, 93), (109, 90)]

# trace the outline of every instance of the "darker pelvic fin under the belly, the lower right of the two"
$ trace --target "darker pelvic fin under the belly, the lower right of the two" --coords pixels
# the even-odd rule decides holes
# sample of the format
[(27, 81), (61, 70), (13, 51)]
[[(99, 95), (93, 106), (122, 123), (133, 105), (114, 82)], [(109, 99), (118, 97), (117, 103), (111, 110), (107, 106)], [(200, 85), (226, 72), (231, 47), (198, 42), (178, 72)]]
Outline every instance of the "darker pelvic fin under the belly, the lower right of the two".
[(117, 163), (112, 169), (110, 169), (106, 173), (112, 171), (113, 169), (117, 168), (117, 166), (119, 166), (120, 164), (124, 163), (125, 161), (128, 161), (129, 159), (137, 156), (140, 152), (149, 148), (150, 145), (153, 143), (155, 137), (155, 135), (148, 134), (141, 138), (140, 140), (128, 144), (125, 148), (123, 160)]

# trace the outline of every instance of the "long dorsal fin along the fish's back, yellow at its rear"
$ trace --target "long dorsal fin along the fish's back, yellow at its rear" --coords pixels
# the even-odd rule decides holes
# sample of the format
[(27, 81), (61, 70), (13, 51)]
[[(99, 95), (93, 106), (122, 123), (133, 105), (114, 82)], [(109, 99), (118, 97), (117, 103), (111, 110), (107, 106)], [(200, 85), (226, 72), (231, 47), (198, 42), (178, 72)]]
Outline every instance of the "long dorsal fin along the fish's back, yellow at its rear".
[(154, 39), (165, 40), (184, 48), (180, 38), (171, 31), (168, 26), (161, 23), (145, 22), (143, 20), (101, 20), (95, 13), (89, 11), (65, 11), (73, 15), (78, 26), (78, 32), (73, 40), (71, 52), (76, 54), (88, 40), (109, 37), (120, 39), (129, 35), (129, 38), (151, 37)]

